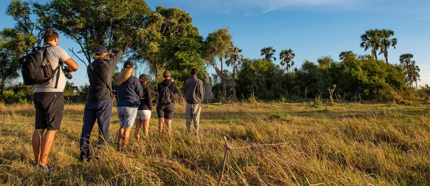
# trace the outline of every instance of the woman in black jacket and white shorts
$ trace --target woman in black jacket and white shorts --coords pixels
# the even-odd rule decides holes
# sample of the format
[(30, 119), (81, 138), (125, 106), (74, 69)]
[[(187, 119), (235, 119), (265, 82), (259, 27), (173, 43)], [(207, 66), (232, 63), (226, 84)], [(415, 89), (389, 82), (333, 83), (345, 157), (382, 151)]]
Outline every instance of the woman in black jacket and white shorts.
[(140, 105), (137, 108), (137, 116), (136, 116), (136, 128), (135, 128), (135, 137), (136, 140), (140, 139), (140, 128), (143, 123), (143, 131), (145, 137), (148, 137), (148, 128), (149, 122), (151, 119), (151, 110), (152, 110), (152, 96), (151, 96), (151, 88), (146, 85), (148, 82), (148, 77), (146, 74), (141, 74), (139, 76), (139, 82), (142, 85), (143, 95), (140, 98)]

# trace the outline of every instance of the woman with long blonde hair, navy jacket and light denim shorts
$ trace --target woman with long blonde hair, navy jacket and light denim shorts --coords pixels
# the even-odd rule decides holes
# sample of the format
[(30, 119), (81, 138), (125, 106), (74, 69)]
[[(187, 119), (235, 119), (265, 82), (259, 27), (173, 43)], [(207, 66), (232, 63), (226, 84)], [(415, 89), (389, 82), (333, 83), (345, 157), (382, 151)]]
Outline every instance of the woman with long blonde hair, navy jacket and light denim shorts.
[(126, 146), (129, 140), (130, 131), (137, 115), (139, 97), (143, 94), (139, 79), (132, 76), (133, 71), (133, 64), (127, 61), (115, 83), (118, 98), (117, 111), (120, 119), (117, 144), (121, 146)]

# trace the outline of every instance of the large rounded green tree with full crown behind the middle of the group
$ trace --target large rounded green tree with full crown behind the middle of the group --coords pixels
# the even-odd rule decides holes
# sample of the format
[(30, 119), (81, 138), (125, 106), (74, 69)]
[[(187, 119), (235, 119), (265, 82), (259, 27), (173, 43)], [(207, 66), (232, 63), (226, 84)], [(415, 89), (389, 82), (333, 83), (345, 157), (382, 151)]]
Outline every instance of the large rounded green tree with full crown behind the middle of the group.
[(203, 37), (191, 21), (184, 10), (158, 5), (144, 27), (137, 30), (132, 58), (148, 64), (156, 77), (163, 69), (203, 69)]

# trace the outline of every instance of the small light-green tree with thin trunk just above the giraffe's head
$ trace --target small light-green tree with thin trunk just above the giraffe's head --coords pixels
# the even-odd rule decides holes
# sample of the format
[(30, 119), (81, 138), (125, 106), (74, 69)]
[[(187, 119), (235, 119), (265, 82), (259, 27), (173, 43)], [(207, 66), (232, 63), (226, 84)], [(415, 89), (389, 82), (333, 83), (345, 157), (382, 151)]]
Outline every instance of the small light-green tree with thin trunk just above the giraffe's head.
[(223, 58), (232, 51), (232, 35), (228, 32), (229, 27), (219, 28), (206, 37), (206, 46), (204, 56), (210, 63), (215, 63), (215, 58), (221, 62), (221, 71), (223, 71)]

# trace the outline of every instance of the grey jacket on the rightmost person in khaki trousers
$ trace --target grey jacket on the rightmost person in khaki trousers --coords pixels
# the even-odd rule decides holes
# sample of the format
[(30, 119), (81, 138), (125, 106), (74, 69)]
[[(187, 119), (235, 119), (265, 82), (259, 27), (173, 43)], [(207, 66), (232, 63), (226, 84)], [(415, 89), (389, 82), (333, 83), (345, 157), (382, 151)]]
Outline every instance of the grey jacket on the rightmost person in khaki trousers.
[(191, 76), (185, 81), (185, 101), (189, 104), (201, 104), (205, 95), (203, 82), (197, 76)]

